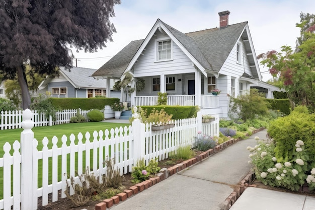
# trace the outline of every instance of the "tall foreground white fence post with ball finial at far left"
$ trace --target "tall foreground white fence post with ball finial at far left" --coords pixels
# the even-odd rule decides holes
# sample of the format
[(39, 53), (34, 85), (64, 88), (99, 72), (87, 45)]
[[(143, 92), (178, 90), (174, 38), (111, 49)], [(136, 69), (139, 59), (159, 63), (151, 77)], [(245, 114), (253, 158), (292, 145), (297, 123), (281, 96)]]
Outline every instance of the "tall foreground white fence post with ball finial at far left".
[(37, 203), (34, 203), (34, 206), (32, 206), (33, 113), (31, 110), (26, 109), (22, 115), (21, 127), (24, 130), (21, 132), (21, 209), (37, 209)]

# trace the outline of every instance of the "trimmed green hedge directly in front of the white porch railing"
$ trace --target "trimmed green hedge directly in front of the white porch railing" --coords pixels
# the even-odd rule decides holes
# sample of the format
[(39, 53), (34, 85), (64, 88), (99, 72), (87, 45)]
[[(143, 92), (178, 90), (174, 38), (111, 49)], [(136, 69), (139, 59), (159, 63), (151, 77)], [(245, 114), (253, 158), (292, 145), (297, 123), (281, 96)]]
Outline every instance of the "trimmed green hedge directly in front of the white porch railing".
[(141, 106), (143, 110), (146, 110), (146, 116), (148, 116), (151, 111), (155, 110), (164, 111), (168, 114), (173, 114), (172, 119), (186, 119), (197, 116), (198, 106)]

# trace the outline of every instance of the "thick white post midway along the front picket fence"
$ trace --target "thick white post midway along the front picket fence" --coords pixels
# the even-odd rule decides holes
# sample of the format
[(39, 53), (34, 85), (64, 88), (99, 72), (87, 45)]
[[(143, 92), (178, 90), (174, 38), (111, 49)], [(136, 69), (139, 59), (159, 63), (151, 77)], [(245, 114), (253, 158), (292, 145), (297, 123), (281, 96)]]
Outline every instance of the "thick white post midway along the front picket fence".
[(145, 127), (144, 123), (141, 123), (139, 119), (134, 119), (131, 126), (134, 139), (134, 160), (138, 161), (144, 158), (145, 155)]

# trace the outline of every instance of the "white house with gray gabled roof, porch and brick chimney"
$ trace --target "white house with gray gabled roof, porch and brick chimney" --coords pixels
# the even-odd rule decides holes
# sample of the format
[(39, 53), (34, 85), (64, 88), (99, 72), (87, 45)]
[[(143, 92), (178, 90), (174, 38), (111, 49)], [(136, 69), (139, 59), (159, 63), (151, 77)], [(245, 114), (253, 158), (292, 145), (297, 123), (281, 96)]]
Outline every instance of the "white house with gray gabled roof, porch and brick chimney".
[[(273, 98), (280, 90), (262, 82), (248, 22), (228, 25), (229, 14), (219, 13), (219, 28), (186, 34), (157, 19), (145, 39), (130, 42), (92, 76), (123, 79), (129, 72), (133, 87), (143, 79), (145, 88), (131, 94), (131, 106), (155, 105), (157, 93), (166, 92), (169, 105), (198, 105), (221, 118), (228, 117), (228, 95), (260, 87)], [(213, 89), (221, 93), (212, 95)]]

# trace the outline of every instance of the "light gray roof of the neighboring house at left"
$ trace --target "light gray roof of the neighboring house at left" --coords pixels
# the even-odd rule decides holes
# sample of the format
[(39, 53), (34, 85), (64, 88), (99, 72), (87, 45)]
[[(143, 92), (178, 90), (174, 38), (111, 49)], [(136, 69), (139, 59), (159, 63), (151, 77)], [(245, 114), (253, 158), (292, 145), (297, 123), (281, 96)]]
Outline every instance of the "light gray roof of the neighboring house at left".
[[(60, 67), (59, 74), (64, 76), (74, 88), (106, 89), (106, 80), (96, 80), (93, 77), (90, 77), (95, 71), (96, 69), (83, 67), (72, 67), (69, 71), (64, 67)], [(51, 78), (47, 78), (38, 86), (38, 88), (44, 88), (51, 80)]]

